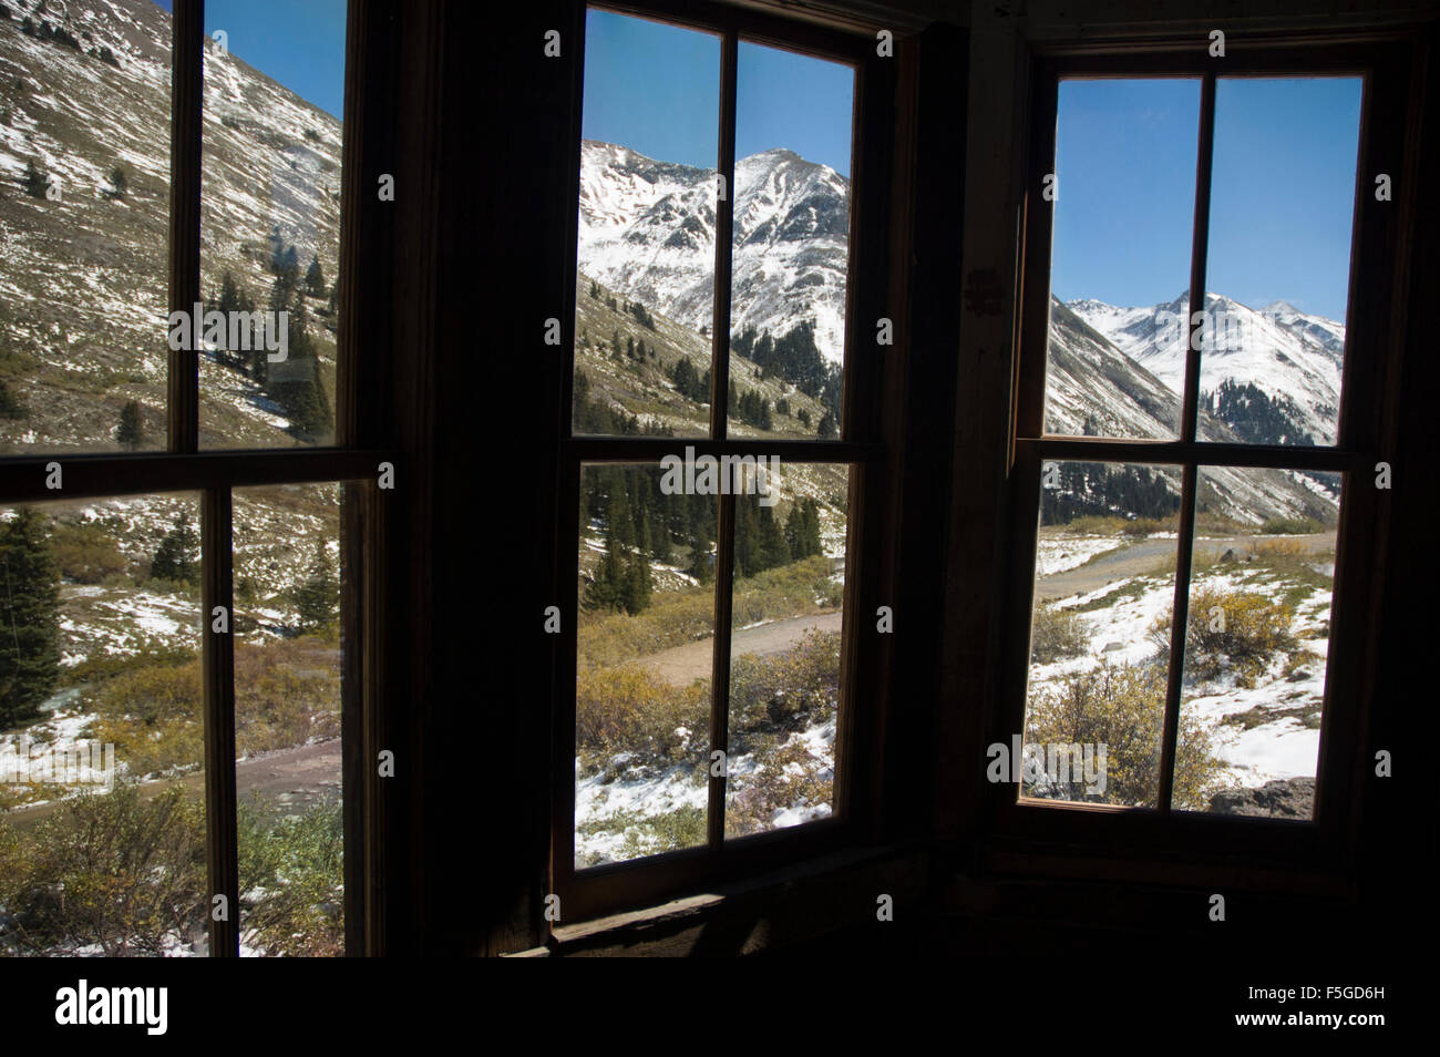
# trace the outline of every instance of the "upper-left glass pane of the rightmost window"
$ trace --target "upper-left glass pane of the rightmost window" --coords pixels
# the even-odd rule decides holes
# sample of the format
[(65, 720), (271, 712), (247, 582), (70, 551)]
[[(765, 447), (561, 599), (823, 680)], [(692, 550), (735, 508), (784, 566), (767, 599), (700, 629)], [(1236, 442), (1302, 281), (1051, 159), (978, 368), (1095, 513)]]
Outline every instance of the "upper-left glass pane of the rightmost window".
[(1179, 428), (1198, 128), (1198, 79), (1060, 82), (1047, 433)]

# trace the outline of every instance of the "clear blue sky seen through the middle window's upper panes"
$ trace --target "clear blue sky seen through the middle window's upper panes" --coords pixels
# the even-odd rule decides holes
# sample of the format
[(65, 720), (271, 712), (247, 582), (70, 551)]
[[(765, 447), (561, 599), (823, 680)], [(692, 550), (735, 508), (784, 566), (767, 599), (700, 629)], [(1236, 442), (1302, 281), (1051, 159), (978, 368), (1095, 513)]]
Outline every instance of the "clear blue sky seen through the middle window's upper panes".
[[(720, 37), (590, 10), (583, 135), (661, 161), (714, 168)], [(736, 157), (773, 147), (850, 174), (854, 71), (740, 42)]]

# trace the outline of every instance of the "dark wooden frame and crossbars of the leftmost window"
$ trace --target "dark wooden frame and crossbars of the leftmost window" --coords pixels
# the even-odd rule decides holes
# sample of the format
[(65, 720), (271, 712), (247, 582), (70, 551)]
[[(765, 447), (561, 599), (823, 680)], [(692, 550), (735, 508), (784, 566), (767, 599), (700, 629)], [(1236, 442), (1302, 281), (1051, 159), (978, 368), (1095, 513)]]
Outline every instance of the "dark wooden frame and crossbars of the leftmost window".
[[(390, 370), (383, 320), (389, 264), (376, 252), (387, 238), (386, 213), (374, 209), (363, 180), (393, 134), (393, 102), (383, 84), (393, 55), (392, 4), (350, 0), (346, 39), (346, 128), (341, 147), (340, 297), (336, 347), (336, 442), (333, 446), (199, 448), (199, 356), (168, 353), (164, 452), (0, 456), (0, 505), (151, 492), (196, 492), (200, 501), (200, 612), (233, 605), (233, 491), (242, 487), (343, 482), (341, 504), (341, 793), (344, 817), (346, 953), (379, 953), (384, 907), (380, 819), (384, 799), (376, 759), (384, 745), (387, 608), (386, 497), (379, 465), (405, 474), (402, 452), (376, 395)], [(200, 174), (204, 0), (174, 0), (171, 12), (168, 305), (190, 311), (200, 300)], [(157, 334), (157, 340), (160, 336)], [(63, 490), (46, 487), (48, 464), (59, 462)], [(210, 956), (239, 956), (239, 847), (235, 782), (235, 644), (202, 622), (204, 723), (204, 818), (207, 896), (226, 896), (228, 920), (210, 920)], [(209, 899), (206, 900), (209, 904)]]

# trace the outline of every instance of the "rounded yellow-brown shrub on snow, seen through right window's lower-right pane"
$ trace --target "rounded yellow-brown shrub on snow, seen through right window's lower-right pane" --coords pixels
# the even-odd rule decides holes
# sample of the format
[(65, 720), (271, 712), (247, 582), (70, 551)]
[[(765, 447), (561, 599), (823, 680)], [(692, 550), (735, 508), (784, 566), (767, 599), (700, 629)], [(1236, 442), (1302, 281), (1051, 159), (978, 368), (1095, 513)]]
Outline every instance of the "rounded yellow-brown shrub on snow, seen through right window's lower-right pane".
[[(1256, 592), (1200, 588), (1189, 598), (1187, 675), (1208, 681), (1230, 670), (1237, 685), (1253, 687), (1276, 654), (1299, 648), (1290, 631), (1293, 619), (1286, 602)], [(1168, 616), (1155, 621), (1151, 638), (1168, 652)]]

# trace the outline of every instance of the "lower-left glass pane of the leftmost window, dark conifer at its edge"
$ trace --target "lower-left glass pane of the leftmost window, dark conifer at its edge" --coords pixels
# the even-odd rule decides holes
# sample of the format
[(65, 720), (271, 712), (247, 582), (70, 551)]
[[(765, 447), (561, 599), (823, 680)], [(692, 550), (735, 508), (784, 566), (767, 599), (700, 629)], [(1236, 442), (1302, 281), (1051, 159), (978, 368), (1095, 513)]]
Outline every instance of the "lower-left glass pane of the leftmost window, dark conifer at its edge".
[(193, 495), (0, 511), (0, 955), (204, 955)]

